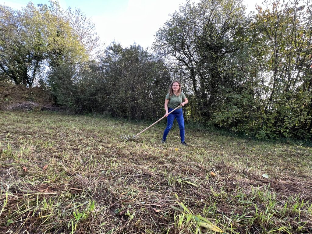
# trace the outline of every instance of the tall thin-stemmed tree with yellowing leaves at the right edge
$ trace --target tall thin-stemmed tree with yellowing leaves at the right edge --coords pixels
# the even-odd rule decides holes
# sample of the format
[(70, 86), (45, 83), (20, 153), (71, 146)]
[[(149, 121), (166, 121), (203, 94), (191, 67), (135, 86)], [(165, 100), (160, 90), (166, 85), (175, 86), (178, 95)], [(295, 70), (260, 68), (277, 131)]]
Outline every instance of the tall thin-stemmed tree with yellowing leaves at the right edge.
[[(274, 1), (253, 27), (259, 138), (311, 136), (311, 6)], [(307, 9), (308, 8), (308, 9)]]

